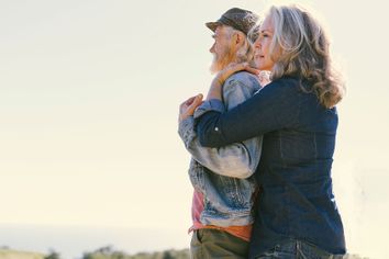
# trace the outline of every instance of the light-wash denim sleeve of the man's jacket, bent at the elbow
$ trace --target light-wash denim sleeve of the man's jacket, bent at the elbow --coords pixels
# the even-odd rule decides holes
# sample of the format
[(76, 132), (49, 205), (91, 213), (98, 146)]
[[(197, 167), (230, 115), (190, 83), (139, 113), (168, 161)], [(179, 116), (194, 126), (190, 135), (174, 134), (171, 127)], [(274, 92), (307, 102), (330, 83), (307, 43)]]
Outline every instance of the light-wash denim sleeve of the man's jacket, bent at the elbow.
[[(253, 82), (246, 82), (246, 80), (227, 80), (223, 86), (224, 103), (219, 103), (213, 109), (218, 111), (230, 110), (249, 99), (254, 92), (251, 83)], [(211, 103), (209, 105), (212, 106)], [(198, 110), (194, 117), (201, 115), (202, 111)], [(262, 136), (220, 148), (202, 147), (194, 131), (192, 116), (179, 124), (179, 135), (192, 158), (215, 173), (248, 178), (255, 172), (259, 162)]]

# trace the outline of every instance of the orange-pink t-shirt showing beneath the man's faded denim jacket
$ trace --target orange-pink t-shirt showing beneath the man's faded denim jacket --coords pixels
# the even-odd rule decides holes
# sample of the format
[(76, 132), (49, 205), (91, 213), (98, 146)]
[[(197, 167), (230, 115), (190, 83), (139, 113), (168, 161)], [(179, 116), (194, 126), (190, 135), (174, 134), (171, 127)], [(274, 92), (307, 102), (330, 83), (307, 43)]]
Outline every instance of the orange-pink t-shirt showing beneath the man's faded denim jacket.
[(189, 232), (201, 229), (201, 228), (220, 229), (230, 233), (233, 236), (240, 237), (246, 241), (249, 241), (249, 238), (252, 236), (252, 228), (253, 228), (252, 224), (246, 226), (229, 226), (229, 227), (202, 225), (200, 222), (200, 215), (203, 210), (204, 210), (203, 195), (201, 192), (194, 190), (193, 200), (192, 200), (193, 225), (189, 228)]

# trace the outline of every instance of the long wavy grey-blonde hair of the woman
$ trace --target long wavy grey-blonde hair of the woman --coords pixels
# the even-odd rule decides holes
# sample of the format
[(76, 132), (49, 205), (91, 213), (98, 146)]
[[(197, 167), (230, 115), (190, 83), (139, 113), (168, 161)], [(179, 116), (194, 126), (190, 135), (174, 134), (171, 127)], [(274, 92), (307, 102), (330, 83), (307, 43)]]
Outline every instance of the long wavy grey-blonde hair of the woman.
[(332, 67), (330, 43), (319, 22), (297, 5), (271, 7), (268, 15), (274, 24), (273, 80), (298, 76), (311, 82), (301, 83), (301, 88), (304, 92), (314, 92), (322, 105), (332, 108), (338, 103), (345, 86)]

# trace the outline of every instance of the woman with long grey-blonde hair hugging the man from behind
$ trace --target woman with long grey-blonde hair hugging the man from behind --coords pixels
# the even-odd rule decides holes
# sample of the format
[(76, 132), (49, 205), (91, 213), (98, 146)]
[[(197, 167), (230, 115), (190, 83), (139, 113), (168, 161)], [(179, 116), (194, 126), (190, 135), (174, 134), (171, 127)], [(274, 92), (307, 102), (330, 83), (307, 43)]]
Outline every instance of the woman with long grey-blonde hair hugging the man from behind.
[(257, 218), (249, 258), (342, 258), (345, 240), (332, 193), (331, 166), (343, 87), (332, 71), (329, 41), (307, 11), (273, 7), (255, 42), (259, 70), (271, 80), (243, 104), (219, 110), (221, 71), (198, 110), (200, 143), (221, 147), (264, 135)]

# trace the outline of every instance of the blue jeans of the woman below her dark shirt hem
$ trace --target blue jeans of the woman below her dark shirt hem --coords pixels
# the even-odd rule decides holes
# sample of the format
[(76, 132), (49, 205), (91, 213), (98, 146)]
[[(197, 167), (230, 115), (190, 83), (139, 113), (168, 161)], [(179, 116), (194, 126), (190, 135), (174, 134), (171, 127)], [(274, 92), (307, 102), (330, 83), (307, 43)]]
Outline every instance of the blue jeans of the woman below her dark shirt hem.
[(332, 255), (312, 244), (290, 240), (254, 257), (255, 259), (342, 259), (343, 255)]

